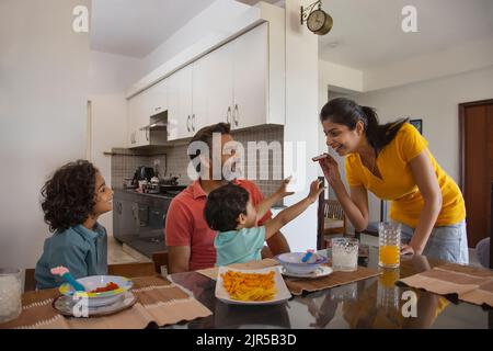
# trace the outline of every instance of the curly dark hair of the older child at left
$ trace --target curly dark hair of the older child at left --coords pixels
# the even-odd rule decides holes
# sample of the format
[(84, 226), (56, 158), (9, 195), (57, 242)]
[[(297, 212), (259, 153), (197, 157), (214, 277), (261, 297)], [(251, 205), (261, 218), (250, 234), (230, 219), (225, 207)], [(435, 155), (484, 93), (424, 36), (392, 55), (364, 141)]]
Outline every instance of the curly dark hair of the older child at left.
[(78, 160), (59, 168), (42, 189), (42, 208), (50, 231), (82, 224), (95, 205), (95, 174), (89, 161)]

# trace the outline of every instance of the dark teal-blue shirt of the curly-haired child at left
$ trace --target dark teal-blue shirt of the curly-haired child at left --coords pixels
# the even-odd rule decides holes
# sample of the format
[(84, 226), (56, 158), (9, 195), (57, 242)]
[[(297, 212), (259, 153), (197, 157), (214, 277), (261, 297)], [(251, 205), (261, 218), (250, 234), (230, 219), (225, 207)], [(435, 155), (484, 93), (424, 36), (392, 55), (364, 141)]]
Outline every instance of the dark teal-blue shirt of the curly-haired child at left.
[(98, 223), (93, 230), (77, 225), (46, 239), (36, 264), (37, 288), (57, 287), (64, 283), (61, 276), (50, 273), (58, 265), (68, 268), (74, 279), (107, 274), (106, 229)]

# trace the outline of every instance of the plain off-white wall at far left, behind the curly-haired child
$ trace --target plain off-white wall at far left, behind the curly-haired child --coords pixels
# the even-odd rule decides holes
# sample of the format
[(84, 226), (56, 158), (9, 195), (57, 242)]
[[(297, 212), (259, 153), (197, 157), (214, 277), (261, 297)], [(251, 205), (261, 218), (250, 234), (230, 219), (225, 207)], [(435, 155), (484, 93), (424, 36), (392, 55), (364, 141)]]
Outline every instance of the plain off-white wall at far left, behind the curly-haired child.
[(89, 0), (0, 2), (0, 267), (33, 268), (49, 236), (39, 191), (84, 157), (88, 34), (72, 9)]

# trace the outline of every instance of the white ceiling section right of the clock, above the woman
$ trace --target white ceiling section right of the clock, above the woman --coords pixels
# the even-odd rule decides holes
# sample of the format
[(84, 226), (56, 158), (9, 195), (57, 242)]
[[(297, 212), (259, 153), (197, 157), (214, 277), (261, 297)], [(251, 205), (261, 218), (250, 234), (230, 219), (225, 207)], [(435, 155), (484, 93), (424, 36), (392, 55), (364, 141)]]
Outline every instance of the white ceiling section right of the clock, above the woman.
[[(408, 4), (417, 33), (401, 30)], [(493, 36), (492, 0), (323, 0), (322, 9), (334, 25), (319, 38), (319, 57), (362, 70)]]

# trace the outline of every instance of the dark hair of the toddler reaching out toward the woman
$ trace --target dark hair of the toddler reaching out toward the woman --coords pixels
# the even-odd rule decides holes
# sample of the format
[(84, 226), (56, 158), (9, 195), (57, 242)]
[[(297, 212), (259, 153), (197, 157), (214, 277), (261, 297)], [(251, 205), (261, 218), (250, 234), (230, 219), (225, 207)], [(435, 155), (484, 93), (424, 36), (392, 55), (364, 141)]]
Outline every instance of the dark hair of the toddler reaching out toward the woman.
[(213, 230), (236, 230), (238, 216), (246, 214), (250, 194), (243, 188), (229, 183), (210, 192), (204, 208), (207, 225)]

